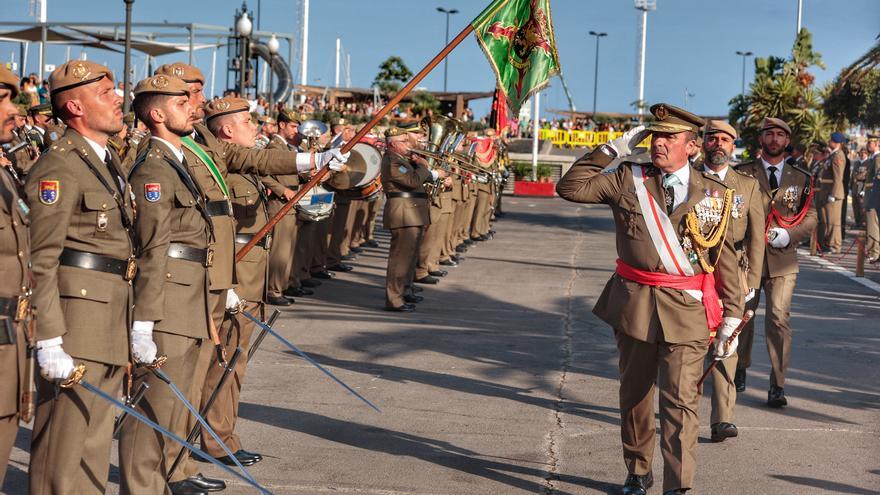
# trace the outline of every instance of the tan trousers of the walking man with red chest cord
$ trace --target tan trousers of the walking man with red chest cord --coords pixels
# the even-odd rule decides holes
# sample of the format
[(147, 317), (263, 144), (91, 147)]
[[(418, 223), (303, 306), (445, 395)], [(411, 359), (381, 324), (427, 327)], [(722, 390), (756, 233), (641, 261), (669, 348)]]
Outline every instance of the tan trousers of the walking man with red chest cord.
[[(746, 304), (746, 309), (755, 309), (761, 300), (761, 290), (767, 293), (766, 316), (764, 317), (764, 337), (767, 353), (770, 355), (770, 384), (785, 386), (785, 372), (791, 357), (791, 298), (797, 274), (761, 279), (761, 287), (755, 291), (755, 298)], [(752, 365), (752, 343), (755, 338), (755, 320), (749, 321), (739, 337), (737, 355), (739, 369)]]

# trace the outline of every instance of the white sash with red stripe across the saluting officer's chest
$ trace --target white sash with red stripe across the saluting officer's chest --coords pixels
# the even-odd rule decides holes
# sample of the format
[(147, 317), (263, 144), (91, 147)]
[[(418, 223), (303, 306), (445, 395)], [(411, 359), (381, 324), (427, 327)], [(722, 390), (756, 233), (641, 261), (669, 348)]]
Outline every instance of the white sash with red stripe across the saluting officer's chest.
[[(654, 197), (645, 188), (645, 181), (647, 180), (647, 177), (645, 177), (645, 166), (633, 165), (632, 171), (636, 197), (639, 198), (639, 207), (642, 209), (642, 216), (645, 218), (648, 233), (651, 235), (651, 241), (654, 243), (657, 254), (660, 255), (660, 261), (663, 263), (666, 273), (693, 277), (694, 267), (691, 266), (691, 262), (681, 248), (675, 227), (669, 221), (666, 211), (657, 206)], [(703, 299), (703, 291), (686, 290), (685, 292), (697, 301)]]

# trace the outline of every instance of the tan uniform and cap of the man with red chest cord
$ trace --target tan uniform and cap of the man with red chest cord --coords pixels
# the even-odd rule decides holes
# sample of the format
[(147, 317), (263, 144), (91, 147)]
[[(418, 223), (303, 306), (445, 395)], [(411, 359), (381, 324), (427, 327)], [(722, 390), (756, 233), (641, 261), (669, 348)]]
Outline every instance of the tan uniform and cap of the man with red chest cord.
[[(788, 125), (779, 120), (765, 119), (764, 128), (779, 127), (788, 131)], [(790, 242), (782, 248), (767, 245), (764, 254), (764, 265), (761, 272), (761, 286), (755, 297), (746, 305), (747, 309), (756, 309), (761, 299), (761, 292), (767, 294), (766, 316), (764, 317), (764, 334), (767, 340), (767, 352), (770, 355), (770, 392), (774, 396), (773, 404), (785, 405), (782, 388), (785, 386), (785, 371), (791, 355), (791, 299), (799, 271), (797, 246), (809, 239), (816, 228), (816, 209), (810, 197), (810, 173), (781, 162), (776, 171), (769, 170), (766, 162), (761, 160), (738, 165), (740, 173), (758, 179), (761, 187), (761, 206), (768, 217), (767, 228), (780, 227), (776, 214), (791, 220), (793, 225), (785, 227)], [(775, 190), (770, 187), (770, 174), (776, 175)], [(805, 210), (806, 209), (806, 210)], [(774, 218), (771, 218), (771, 213)], [(783, 226), (784, 227), (784, 226)], [(737, 349), (739, 361), (737, 367), (743, 373), (752, 364), (752, 342), (754, 340), (755, 320), (752, 319), (740, 334), (740, 345)], [(780, 394), (782, 394), (780, 396)]]

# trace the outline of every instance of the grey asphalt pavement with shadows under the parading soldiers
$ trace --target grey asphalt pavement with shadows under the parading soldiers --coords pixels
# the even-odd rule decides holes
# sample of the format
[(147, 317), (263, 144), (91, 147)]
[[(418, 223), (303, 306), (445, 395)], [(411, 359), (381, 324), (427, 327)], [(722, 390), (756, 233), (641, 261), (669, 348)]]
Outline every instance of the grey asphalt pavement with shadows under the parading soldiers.
[[(264, 456), (250, 468), (258, 481), (297, 495), (619, 493), (617, 352), (591, 313), (616, 257), (610, 211), (504, 201), (495, 239), (425, 286), (415, 313), (382, 309), (381, 230), (381, 247), (354, 272), (282, 309), (279, 332), (382, 412), (269, 337), (250, 364), (238, 428), (244, 448)], [(764, 405), (761, 310), (739, 437), (709, 441), (704, 398), (692, 493), (880, 493), (880, 287), (828, 260), (804, 256), (801, 266), (790, 405)], [(8, 493), (25, 493), (29, 437), (23, 428)], [(661, 462), (658, 447), (658, 478)], [(114, 455), (111, 493), (115, 466)], [(225, 493), (254, 491), (229, 481)]]

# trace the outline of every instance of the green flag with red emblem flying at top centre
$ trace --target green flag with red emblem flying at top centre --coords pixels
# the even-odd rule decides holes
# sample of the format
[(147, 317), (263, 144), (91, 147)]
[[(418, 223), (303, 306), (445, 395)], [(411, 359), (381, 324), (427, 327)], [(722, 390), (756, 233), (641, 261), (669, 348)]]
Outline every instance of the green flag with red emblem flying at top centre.
[(550, 0), (495, 0), (473, 22), (513, 115), (559, 73)]

